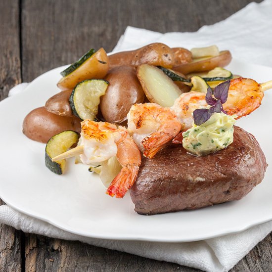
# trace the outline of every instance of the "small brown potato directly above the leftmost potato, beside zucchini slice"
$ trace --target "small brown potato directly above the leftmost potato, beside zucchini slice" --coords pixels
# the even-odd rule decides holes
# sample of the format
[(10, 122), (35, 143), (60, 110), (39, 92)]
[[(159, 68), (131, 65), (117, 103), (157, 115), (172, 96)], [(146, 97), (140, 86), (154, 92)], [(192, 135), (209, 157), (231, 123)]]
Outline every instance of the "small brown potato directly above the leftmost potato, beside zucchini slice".
[(73, 116), (69, 97), (72, 90), (61, 91), (50, 97), (45, 103), (45, 109), (53, 114), (60, 116)]

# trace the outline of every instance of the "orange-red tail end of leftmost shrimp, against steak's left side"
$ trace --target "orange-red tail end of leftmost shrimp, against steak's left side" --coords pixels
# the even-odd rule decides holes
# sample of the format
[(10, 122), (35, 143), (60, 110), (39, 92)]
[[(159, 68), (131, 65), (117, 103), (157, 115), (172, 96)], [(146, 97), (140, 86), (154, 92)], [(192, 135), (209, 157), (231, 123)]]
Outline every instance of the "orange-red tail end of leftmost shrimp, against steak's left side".
[(126, 192), (134, 184), (138, 175), (139, 166), (133, 165), (123, 167), (120, 173), (110, 183), (106, 193), (116, 198), (123, 198)]

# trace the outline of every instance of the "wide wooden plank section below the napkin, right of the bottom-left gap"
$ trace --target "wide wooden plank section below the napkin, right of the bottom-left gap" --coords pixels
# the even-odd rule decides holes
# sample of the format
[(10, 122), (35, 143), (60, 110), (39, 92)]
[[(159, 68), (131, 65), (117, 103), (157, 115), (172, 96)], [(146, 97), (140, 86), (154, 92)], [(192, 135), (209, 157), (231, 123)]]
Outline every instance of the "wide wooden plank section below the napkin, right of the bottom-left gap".
[[(188, 271), (177, 264), (159, 262), (80, 242), (27, 234), (26, 271), (165, 272)], [(198, 272), (199, 270), (190, 270)]]

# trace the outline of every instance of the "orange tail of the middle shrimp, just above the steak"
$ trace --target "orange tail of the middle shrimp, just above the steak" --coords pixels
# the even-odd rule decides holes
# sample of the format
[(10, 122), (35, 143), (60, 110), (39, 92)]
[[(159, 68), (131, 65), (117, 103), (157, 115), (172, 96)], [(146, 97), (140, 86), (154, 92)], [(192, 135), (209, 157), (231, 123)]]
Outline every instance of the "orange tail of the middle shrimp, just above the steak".
[(144, 147), (143, 155), (152, 159), (173, 138), (173, 136), (163, 132), (152, 133), (141, 141)]

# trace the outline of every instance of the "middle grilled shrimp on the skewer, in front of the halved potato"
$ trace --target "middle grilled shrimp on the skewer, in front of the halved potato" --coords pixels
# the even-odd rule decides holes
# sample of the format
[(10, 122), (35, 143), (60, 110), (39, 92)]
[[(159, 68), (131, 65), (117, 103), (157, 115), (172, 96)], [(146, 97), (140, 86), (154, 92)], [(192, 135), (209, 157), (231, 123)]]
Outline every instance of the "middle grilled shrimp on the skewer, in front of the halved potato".
[(150, 159), (180, 130), (176, 115), (155, 103), (135, 104), (128, 113), (128, 131), (143, 155)]

